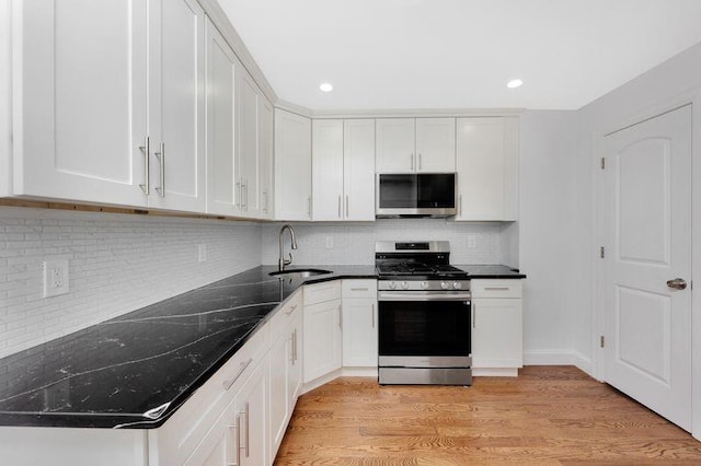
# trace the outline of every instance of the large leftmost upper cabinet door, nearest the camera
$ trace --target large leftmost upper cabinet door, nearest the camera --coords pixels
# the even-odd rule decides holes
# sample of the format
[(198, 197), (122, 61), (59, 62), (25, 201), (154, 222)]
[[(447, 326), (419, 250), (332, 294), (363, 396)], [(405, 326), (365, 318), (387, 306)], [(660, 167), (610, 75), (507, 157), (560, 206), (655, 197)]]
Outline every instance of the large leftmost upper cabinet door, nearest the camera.
[(145, 206), (146, 1), (15, 7), (13, 194)]

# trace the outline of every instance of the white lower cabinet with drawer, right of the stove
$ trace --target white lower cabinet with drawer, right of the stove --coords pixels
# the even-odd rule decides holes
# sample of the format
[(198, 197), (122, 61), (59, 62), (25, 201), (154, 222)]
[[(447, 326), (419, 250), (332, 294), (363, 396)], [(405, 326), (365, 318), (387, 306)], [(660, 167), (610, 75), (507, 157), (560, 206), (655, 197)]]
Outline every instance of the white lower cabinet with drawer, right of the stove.
[(517, 375), (524, 366), (520, 280), (472, 280), (474, 375)]

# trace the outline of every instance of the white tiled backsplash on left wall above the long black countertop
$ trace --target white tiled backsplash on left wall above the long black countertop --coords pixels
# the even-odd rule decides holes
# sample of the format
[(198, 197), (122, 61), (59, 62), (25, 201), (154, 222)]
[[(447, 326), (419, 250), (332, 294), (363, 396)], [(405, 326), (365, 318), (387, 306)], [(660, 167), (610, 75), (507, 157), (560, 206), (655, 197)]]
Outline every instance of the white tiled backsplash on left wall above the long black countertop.
[[(43, 298), (46, 256), (69, 260), (68, 294)], [(0, 207), (0, 357), (260, 261), (257, 224)]]

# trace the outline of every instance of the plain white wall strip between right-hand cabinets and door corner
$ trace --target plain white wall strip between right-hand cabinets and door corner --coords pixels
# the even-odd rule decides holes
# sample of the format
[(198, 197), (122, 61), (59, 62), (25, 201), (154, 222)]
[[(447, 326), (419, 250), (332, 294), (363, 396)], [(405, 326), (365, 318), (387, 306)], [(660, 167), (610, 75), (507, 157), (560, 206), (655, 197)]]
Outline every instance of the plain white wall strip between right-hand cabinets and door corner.
[(527, 364), (571, 363), (576, 113), (527, 110), (520, 121), (520, 269)]

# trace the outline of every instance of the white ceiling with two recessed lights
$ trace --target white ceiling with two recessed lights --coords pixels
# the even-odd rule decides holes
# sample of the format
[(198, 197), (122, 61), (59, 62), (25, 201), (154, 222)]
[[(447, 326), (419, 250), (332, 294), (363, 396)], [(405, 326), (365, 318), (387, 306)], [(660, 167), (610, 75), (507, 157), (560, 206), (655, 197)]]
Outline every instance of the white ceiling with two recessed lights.
[(701, 0), (219, 2), (278, 97), (314, 110), (574, 109), (701, 42)]

